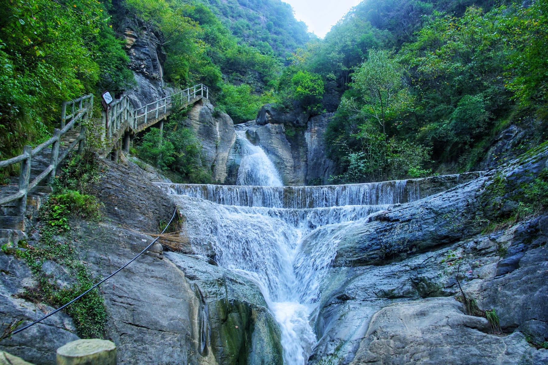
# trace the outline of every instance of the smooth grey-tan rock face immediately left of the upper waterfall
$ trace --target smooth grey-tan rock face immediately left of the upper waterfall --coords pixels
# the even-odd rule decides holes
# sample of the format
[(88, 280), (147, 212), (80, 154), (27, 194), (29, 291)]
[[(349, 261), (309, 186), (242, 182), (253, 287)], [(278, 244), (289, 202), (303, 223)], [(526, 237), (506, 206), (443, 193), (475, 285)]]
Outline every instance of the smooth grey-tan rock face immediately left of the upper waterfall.
[(186, 125), (202, 141), (204, 160), (219, 183), (236, 180), (231, 163), (235, 158), (236, 132), (232, 119), (226, 113), (215, 113), (213, 105), (202, 99), (187, 114)]

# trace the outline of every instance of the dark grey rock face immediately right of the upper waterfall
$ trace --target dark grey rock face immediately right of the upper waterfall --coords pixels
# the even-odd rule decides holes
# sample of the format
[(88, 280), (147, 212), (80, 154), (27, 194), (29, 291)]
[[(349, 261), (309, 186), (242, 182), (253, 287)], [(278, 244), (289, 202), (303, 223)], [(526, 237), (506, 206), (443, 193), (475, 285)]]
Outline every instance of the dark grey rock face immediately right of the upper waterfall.
[(268, 104), (255, 123), (248, 123), (249, 140), (261, 146), (286, 185), (328, 184), (338, 172), (329, 160), (324, 132), (333, 113), (311, 116), (302, 109), (282, 113)]

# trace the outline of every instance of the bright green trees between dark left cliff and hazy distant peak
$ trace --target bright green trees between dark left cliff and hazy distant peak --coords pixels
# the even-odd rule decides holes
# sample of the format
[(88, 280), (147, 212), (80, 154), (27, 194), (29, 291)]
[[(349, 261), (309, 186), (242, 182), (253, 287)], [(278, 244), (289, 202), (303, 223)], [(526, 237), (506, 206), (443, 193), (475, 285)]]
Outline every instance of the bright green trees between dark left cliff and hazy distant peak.
[[(175, 86), (202, 82), (213, 101), (237, 122), (255, 118), (261, 92), (268, 90), (282, 65), (231, 33), (202, 2), (125, 0), (140, 18), (164, 34), (165, 79)], [(242, 102), (246, 102), (242, 105)]]

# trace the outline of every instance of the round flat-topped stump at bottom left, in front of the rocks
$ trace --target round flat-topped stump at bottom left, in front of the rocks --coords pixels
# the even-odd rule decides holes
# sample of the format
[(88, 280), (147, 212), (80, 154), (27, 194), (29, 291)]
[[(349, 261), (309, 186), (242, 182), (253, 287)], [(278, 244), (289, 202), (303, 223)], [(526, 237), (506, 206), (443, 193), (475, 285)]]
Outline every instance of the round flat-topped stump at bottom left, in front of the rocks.
[(76, 340), (57, 349), (57, 365), (116, 365), (112, 341)]

